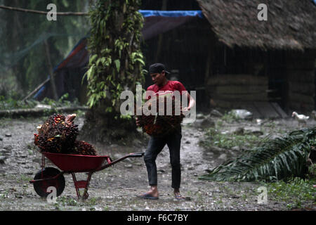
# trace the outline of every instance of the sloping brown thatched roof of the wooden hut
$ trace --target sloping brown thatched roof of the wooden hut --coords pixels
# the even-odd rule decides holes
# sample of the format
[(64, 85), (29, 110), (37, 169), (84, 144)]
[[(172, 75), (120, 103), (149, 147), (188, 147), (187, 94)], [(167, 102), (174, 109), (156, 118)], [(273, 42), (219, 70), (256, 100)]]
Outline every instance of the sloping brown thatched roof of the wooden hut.
[[(213, 32), (228, 46), (316, 49), (316, 6), (310, 0), (197, 0)], [(259, 21), (258, 4), (268, 6)]]

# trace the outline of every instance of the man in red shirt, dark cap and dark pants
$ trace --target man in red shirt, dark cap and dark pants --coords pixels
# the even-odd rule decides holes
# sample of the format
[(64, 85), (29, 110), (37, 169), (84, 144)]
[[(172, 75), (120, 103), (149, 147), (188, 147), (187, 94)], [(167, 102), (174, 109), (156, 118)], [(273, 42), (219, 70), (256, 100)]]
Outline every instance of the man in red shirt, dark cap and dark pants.
[[(183, 94), (182, 97), (186, 97), (189, 101), (189, 105), (183, 108), (182, 112), (189, 111), (192, 106), (195, 105), (195, 100), (187, 93), (183, 84), (178, 81), (171, 81), (166, 78), (166, 74), (169, 74), (166, 71), (165, 66), (162, 63), (155, 63), (150, 65), (149, 68), (150, 77), (152, 77), (153, 85), (147, 88), (147, 91), (154, 91), (158, 93), (159, 91), (179, 91), (180, 94)], [(185, 92), (183, 92), (185, 91)], [(182, 93), (183, 92), (183, 93)], [(148, 97), (147, 97), (148, 98)], [(139, 126), (139, 120), (136, 118), (136, 124)], [(148, 181), (150, 184), (150, 190), (143, 195), (138, 195), (140, 198), (145, 199), (158, 199), (159, 193), (157, 188), (157, 166), (156, 158), (157, 155), (162, 151), (164, 146), (169, 147), (170, 152), (170, 162), (171, 162), (171, 176), (172, 176), (172, 188), (173, 194), (177, 200), (184, 199), (180, 195), (180, 180), (181, 180), (181, 170), (180, 170), (180, 141), (182, 138), (181, 127), (179, 124), (178, 129), (175, 129), (171, 134), (165, 136), (151, 136), (150, 141), (145, 151), (144, 161), (147, 167)]]

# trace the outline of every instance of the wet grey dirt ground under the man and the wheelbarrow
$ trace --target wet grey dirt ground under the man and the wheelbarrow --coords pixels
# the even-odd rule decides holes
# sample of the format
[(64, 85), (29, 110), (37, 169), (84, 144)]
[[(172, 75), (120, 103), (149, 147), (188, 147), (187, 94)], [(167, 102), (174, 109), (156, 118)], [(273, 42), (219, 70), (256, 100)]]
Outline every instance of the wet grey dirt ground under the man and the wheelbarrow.
[[(195, 124), (183, 125), (181, 142), (182, 183), (181, 193), (187, 200), (175, 200), (171, 188), (171, 167), (169, 150), (164, 148), (157, 158), (159, 200), (143, 200), (136, 195), (149, 188), (147, 172), (143, 158), (131, 158), (117, 163), (114, 167), (93, 174), (89, 186), (89, 197), (85, 201), (77, 199), (72, 176), (65, 174), (66, 186), (56, 203), (48, 203), (35, 193), (29, 180), (41, 169), (41, 155), (33, 144), (36, 127), (46, 117), (0, 120), (0, 210), (289, 210), (287, 203), (278, 202), (268, 196), (268, 203), (258, 203), (256, 183), (229, 183), (199, 180), (198, 176), (206, 174), (228, 158), (234, 158), (239, 150), (205, 149), (199, 145), (204, 139), (204, 130), (199, 127), (202, 119)], [(79, 129), (84, 123), (83, 117), (77, 117)], [(270, 121), (269, 121), (270, 122)], [(297, 128), (296, 121), (274, 120), (270, 122), (272, 130), (287, 131)], [(312, 120), (308, 126), (315, 125)], [(258, 128), (256, 120), (227, 124), (223, 129), (236, 127)], [(265, 129), (261, 129), (265, 132)], [(83, 140), (84, 141), (84, 140)], [(125, 145), (110, 146), (92, 143), (99, 155), (121, 158), (132, 152), (143, 152), (144, 143), (133, 141)], [(53, 166), (46, 160), (46, 167)], [(77, 178), (86, 179), (86, 174), (77, 174)], [(189, 199), (190, 198), (190, 199)]]

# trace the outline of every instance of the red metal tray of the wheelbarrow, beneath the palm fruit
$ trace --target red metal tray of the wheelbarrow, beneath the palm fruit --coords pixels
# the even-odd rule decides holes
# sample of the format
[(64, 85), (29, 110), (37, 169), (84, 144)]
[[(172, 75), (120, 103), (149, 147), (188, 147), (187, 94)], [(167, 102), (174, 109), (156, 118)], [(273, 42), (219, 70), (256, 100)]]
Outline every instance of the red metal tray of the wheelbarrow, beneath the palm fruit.
[(107, 155), (72, 155), (61, 153), (43, 153), (46, 158), (64, 172), (91, 172), (98, 171), (104, 164), (111, 159)]

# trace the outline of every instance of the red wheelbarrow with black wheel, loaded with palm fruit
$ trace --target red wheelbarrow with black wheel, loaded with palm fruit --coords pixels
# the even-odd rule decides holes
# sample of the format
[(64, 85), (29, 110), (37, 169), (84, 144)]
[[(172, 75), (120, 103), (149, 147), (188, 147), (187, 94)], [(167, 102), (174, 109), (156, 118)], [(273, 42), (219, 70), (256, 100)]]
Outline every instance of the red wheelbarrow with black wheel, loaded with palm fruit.
[[(144, 153), (130, 153), (117, 160), (112, 160), (107, 155), (70, 155), (60, 153), (42, 153), (42, 169), (34, 176), (34, 180), (29, 181), (33, 184), (35, 192), (46, 198), (50, 193), (49, 187), (56, 188), (56, 197), (61, 195), (65, 188), (65, 177), (63, 174), (72, 174), (74, 188), (76, 188), (77, 196), (80, 199), (80, 188), (84, 188), (83, 199), (88, 198), (88, 185), (94, 172), (98, 172), (110, 167), (126, 158), (142, 157)], [(51, 160), (60, 170), (54, 167), (45, 167), (45, 157)], [(88, 172), (88, 178), (85, 181), (77, 181), (75, 173)], [(49, 190), (48, 190), (49, 189)]]

